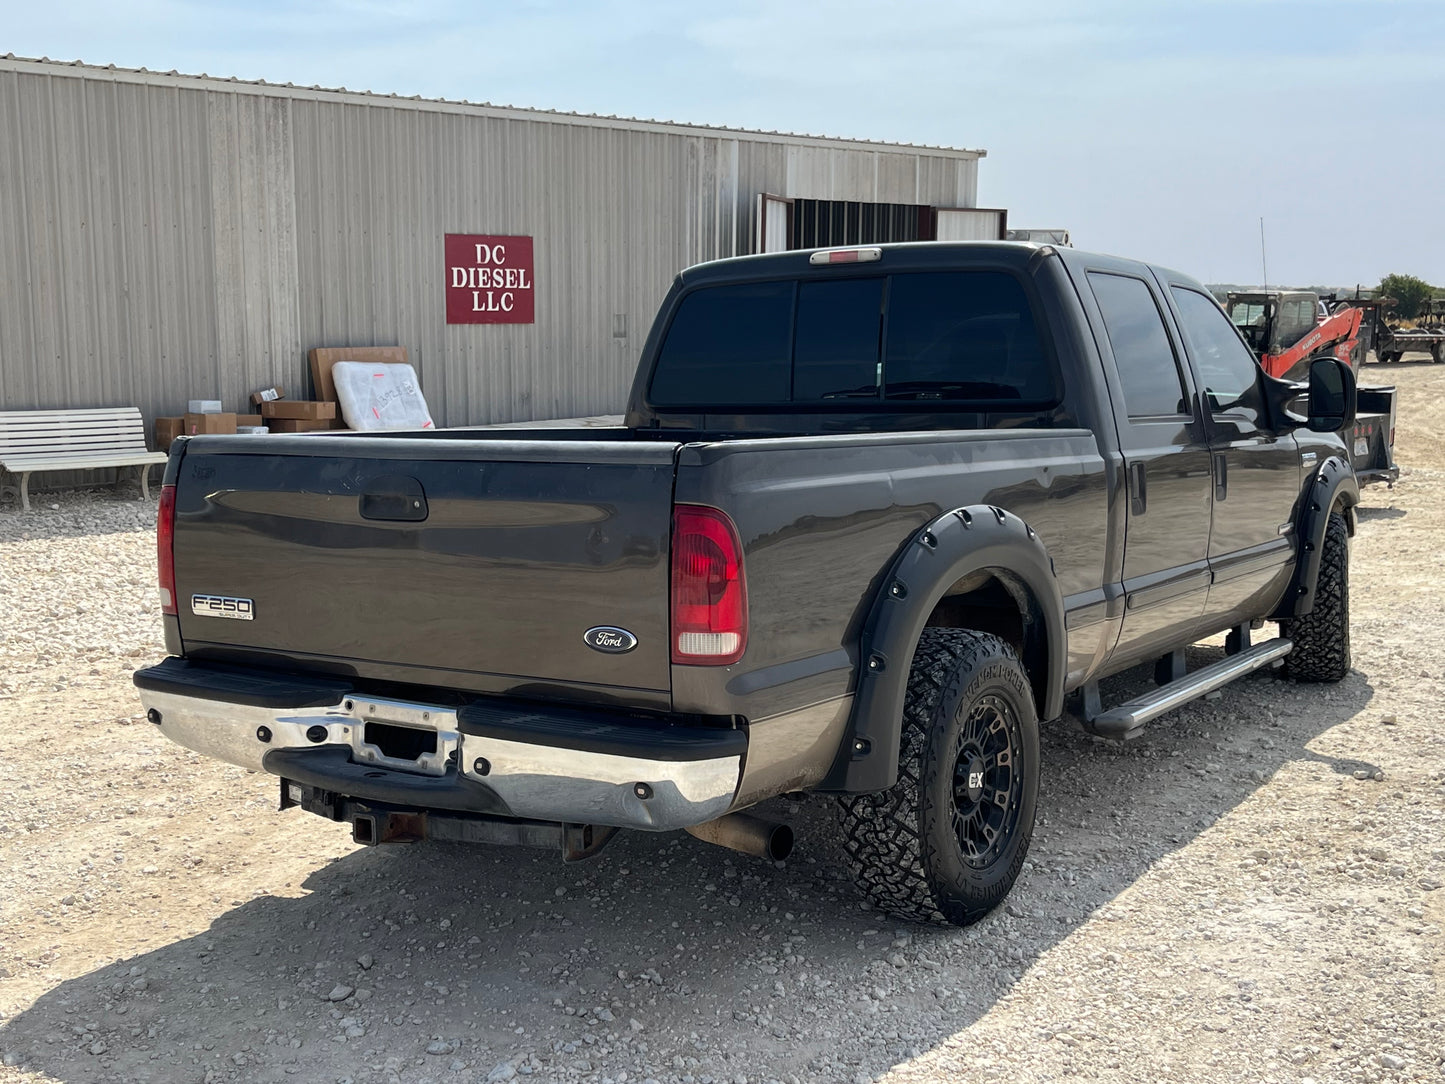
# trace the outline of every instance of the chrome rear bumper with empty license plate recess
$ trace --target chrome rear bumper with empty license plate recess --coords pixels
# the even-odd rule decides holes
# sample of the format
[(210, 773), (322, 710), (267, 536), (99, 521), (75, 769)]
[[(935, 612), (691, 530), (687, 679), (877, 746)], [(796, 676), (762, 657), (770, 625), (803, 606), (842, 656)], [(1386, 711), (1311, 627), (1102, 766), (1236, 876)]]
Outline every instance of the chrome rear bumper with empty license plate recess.
[[(136, 675), (147, 718), (172, 741), (338, 795), (419, 809), (686, 828), (728, 811), (746, 753), (738, 730), (578, 710), (448, 708), (364, 695), (312, 707), (246, 704), (217, 698), (234, 694), (234, 674), (225, 675), (230, 688), (212, 692), (197, 668), (185, 669), (185, 682), (166, 681), (176, 671), (163, 663)], [(422, 731), (425, 750), (399, 757), (393, 746), (389, 756), (368, 724)]]

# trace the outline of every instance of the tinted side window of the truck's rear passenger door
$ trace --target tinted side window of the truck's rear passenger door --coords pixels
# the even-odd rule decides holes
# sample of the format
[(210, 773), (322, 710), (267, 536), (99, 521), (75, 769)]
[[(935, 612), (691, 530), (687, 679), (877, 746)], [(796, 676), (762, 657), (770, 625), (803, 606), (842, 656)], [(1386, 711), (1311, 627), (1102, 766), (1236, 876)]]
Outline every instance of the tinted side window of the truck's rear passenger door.
[(1104, 331), (1124, 384), (1130, 418), (1192, 413), (1185, 402), (1179, 361), (1153, 293), (1142, 279), (1090, 272), (1090, 288), (1104, 314)]

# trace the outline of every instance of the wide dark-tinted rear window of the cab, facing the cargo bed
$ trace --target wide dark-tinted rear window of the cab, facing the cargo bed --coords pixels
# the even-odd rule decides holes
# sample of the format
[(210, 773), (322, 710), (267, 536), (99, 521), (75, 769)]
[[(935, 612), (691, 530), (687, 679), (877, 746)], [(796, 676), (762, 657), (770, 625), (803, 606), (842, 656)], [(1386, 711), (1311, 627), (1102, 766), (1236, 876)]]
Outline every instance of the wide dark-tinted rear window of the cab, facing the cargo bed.
[(1001, 270), (702, 286), (678, 305), (649, 389), (656, 406), (698, 410), (1022, 410), (1061, 397), (1029, 295)]

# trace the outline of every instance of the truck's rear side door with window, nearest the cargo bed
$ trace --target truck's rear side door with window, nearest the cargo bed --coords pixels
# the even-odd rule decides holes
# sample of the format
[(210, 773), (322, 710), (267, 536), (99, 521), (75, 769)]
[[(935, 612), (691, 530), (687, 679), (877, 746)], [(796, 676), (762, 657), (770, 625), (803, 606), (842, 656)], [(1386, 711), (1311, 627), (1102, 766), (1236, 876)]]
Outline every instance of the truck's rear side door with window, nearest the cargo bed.
[(1098, 262), (1085, 278), (1103, 325), (1129, 515), (1124, 620), (1114, 656), (1142, 661), (1188, 642), (1209, 588), (1209, 445), (1165, 302), (1147, 269)]

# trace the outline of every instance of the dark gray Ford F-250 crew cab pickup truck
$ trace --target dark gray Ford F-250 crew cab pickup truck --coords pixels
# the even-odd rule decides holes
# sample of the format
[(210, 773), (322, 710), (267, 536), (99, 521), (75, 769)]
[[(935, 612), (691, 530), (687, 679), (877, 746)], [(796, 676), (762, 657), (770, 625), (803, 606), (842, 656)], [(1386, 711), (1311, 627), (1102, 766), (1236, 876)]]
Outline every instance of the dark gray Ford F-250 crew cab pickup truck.
[[(1264, 376), (1194, 279), (1069, 249), (692, 267), (621, 428), (179, 439), (172, 658), (136, 685), (360, 843), (776, 859), (741, 811), (825, 792), (877, 906), (972, 922), (1066, 694), (1127, 739), (1276, 659), (1345, 675), (1355, 387), (1308, 374)], [(1103, 704), (1142, 663), (1159, 688)]]

